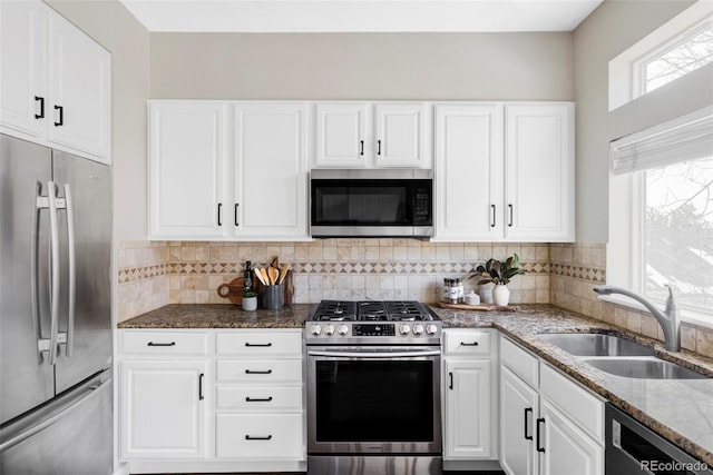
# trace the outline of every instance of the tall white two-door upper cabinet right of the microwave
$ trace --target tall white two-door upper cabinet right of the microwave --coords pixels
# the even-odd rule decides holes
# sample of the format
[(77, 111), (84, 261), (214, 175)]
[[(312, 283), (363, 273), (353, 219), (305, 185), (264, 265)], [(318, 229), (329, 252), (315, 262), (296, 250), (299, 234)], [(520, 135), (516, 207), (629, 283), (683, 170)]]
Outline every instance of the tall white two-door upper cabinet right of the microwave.
[(437, 240), (574, 241), (574, 106), (436, 106)]

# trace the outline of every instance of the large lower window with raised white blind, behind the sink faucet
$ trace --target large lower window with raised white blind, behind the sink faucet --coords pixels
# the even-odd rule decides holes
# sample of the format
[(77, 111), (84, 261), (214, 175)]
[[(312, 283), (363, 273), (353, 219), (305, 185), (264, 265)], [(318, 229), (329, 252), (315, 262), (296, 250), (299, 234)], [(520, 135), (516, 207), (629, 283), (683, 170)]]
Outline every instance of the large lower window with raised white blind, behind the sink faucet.
[(713, 107), (615, 140), (611, 154), (631, 214), (618, 243), (628, 253), (613, 249), (607, 273), (662, 304), (668, 285), (684, 319), (713, 325)]

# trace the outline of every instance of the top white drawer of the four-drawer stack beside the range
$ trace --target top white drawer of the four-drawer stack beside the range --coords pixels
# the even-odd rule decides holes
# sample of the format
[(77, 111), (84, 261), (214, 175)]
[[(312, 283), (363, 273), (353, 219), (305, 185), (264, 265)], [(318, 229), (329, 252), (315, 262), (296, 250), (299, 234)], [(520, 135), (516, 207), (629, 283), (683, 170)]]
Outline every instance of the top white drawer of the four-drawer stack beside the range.
[(302, 331), (218, 331), (215, 350), (218, 355), (302, 356)]

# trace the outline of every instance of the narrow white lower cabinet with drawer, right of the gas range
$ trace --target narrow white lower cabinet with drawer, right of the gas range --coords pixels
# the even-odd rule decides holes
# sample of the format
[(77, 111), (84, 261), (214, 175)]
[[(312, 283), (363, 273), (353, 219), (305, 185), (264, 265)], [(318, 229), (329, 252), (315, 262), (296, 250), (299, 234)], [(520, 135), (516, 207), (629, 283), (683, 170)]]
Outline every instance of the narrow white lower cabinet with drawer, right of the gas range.
[(443, 331), (443, 459), (497, 458), (497, 334)]

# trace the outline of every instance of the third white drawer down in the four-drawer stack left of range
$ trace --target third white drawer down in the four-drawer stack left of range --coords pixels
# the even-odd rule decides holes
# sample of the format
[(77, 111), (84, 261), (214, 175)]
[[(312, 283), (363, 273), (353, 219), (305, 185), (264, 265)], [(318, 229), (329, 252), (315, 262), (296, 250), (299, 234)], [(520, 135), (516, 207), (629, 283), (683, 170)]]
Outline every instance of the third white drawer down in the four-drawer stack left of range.
[(217, 409), (302, 410), (302, 386), (218, 386)]

